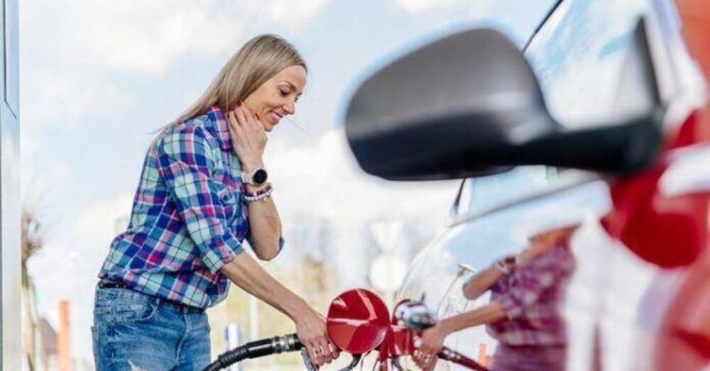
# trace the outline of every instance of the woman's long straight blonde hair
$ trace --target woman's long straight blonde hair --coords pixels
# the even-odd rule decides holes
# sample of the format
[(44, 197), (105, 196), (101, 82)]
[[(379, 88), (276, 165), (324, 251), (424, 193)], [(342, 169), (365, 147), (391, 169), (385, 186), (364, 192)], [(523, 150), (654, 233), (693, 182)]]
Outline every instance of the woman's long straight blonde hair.
[(301, 55), (285, 39), (272, 34), (252, 38), (229, 58), (200, 99), (175, 121), (158, 130), (155, 141), (175, 124), (204, 115), (212, 106), (218, 106), (224, 113), (234, 109), (237, 102), (246, 99), (261, 84), (294, 65), (307, 70)]

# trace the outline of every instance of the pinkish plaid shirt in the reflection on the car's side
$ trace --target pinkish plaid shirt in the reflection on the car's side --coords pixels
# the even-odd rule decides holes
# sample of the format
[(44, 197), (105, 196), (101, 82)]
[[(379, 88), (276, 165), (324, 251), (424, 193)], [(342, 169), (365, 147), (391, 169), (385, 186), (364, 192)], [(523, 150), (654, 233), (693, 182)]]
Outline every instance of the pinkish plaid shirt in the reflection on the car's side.
[(501, 303), (508, 318), (486, 326), (488, 334), (506, 345), (567, 344), (559, 304), (574, 267), (569, 248), (557, 246), (498, 279), (491, 301)]

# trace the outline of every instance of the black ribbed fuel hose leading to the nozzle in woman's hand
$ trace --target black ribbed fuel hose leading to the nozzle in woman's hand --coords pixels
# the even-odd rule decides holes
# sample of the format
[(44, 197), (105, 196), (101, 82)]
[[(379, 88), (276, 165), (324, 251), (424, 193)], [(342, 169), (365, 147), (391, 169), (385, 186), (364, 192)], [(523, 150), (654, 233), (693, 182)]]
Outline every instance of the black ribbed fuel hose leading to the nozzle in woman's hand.
[(265, 355), (293, 352), (303, 348), (295, 333), (246, 343), (217, 357), (203, 371), (217, 371), (234, 365), (234, 363), (249, 358), (259, 358)]

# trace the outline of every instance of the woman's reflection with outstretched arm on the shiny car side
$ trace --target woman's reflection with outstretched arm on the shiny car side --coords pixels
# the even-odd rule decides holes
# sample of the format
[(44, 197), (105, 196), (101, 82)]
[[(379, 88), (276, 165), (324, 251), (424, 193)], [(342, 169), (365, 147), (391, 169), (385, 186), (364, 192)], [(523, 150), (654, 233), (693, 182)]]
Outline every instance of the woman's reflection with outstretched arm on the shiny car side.
[(491, 303), (452, 316), (422, 333), (415, 362), (430, 369), (444, 338), (471, 326), (488, 325), (498, 340), (492, 370), (564, 370), (567, 338), (558, 306), (564, 282), (574, 270), (569, 236), (574, 228), (560, 228), (530, 238), (530, 246), (504, 258), (464, 284), (466, 299), (491, 290)]

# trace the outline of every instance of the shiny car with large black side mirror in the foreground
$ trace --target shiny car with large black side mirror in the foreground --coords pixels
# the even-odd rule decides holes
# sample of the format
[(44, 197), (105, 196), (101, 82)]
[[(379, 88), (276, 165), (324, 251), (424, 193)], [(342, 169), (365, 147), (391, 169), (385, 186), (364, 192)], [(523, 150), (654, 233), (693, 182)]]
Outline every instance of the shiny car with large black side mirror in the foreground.
[[(706, 81), (681, 26), (672, 1), (558, 1), (522, 52), (471, 29), (365, 79), (345, 116), (363, 170), (462, 179), (396, 300), (423, 296), (439, 318), (486, 304), (462, 294), (474, 272), (579, 223), (569, 370), (710, 365)], [(479, 326), (445, 345), (486, 363), (496, 342)]]

